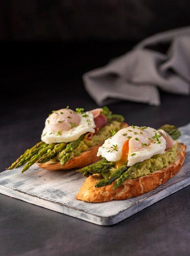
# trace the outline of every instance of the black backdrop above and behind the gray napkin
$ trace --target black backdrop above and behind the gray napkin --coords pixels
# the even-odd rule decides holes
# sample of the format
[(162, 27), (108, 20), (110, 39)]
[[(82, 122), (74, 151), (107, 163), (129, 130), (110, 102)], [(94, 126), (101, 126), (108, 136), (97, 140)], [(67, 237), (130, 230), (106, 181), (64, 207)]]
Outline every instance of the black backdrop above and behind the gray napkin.
[(190, 25), (189, 10), (188, 0), (1, 0), (1, 89), (10, 99), (83, 88), (84, 72), (147, 36)]

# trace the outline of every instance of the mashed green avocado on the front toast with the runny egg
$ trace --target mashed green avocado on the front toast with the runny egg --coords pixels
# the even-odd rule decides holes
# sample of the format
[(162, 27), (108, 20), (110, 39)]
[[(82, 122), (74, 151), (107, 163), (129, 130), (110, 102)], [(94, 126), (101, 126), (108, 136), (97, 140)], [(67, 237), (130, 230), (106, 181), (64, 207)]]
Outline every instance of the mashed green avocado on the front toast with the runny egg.
[[(137, 179), (139, 177), (149, 175), (154, 171), (158, 171), (161, 168), (167, 167), (169, 164), (172, 164), (175, 161), (177, 155), (177, 143), (170, 148), (168, 151), (165, 151), (163, 154), (153, 155), (149, 159), (144, 160), (139, 164), (135, 171), (129, 176), (128, 179)], [(102, 176), (106, 179), (116, 171), (115, 168), (110, 168), (106, 173), (102, 173)]]

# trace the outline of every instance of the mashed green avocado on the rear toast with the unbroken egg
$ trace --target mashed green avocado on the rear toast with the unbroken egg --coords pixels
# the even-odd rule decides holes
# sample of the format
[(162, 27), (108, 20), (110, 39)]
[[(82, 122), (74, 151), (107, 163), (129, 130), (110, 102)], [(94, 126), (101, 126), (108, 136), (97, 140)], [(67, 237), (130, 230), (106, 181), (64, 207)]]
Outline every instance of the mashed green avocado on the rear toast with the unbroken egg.
[[(108, 125), (104, 126), (101, 130), (97, 132), (96, 135), (93, 136), (92, 140), (90, 139), (83, 139), (80, 141), (79, 145), (73, 151), (71, 158), (80, 155), (80, 153), (88, 150), (92, 146), (96, 146), (98, 144), (104, 143), (104, 141), (112, 136), (111, 130), (115, 129), (116, 132), (120, 130), (120, 122), (118, 121), (111, 121)], [(59, 161), (59, 155), (53, 161)]]

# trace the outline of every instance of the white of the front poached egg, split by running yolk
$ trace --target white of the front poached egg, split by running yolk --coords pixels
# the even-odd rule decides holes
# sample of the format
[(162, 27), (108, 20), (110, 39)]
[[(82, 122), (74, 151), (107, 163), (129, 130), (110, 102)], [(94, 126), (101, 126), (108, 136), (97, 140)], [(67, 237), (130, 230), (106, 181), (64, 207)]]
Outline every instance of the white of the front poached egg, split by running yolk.
[[(104, 144), (99, 147), (97, 156), (102, 155), (102, 157), (105, 157), (108, 161), (119, 161), (122, 158), (122, 148), (124, 143), (128, 139), (129, 152), (127, 166), (143, 162), (144, 160), (152, 157), (152, 155), (163, 154), (166, 149), (166, 140), (161, 136), (159, 137), (158, 144), (158, 141), (152, 138), (155, 136), (155, 132), (157, 131), (150, 127), (147, 127), (144, 130), (140, 130), (138, 126), (135, 126), (135, 128), (132, 126), (123, 128), (110, 139), (106, 139)], [(159, 135), (159, 132), (157, 132), (157, 134)], [(142, 146), (142, 144), (150, 145)]]

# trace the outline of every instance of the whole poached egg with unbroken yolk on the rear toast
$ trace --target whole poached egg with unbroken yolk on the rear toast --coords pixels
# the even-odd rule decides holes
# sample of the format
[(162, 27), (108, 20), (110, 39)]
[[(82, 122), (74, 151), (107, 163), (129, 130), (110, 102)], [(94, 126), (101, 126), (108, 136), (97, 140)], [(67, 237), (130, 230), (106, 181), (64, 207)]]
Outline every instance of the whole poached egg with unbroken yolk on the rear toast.
[(95, 126), (93, 113), (62, 108), (46, 119), (41, 140), (46, 144), (71, 142), (86, 132), (94, 133)]

